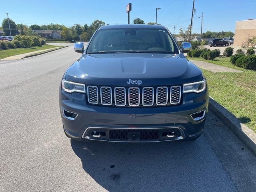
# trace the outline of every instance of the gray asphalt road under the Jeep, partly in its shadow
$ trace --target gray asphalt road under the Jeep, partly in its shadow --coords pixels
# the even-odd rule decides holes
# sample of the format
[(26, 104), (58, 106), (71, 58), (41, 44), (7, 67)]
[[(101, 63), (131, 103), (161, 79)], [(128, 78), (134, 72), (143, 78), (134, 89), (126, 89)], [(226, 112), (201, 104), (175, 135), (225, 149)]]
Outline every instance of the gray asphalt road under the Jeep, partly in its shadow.
[(194, 142), (84, 143), (62, 129), (58, 88), (80, 54), (67, 47), (0, 62), (0, 191), (256, 190), (256, 158), (209, 113)]

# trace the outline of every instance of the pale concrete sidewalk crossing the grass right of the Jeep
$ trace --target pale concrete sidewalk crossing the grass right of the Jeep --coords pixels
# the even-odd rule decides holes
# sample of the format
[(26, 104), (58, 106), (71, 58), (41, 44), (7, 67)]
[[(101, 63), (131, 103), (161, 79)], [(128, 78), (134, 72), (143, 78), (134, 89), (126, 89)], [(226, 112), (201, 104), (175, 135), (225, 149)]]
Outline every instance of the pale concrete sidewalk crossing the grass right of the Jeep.
[(228, 68), (228, 67), (224, 67), (224, 66), (213, 64), (213, 63), (204, 62), (204, 61), (196, 61), (196, 60), (190, 60), (190, 61), (194, 63), (196, 66), (214, 73), (215, 72), (237, 72), (237, 73), (243, 72), (237, 69), (232, 69), (232, 68)]

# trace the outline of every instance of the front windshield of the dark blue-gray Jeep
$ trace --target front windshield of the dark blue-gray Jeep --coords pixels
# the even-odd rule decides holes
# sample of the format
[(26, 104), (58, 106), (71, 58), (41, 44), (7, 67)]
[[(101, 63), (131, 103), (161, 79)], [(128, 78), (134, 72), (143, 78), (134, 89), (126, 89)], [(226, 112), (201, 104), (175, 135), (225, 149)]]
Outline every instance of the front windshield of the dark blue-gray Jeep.
[(87, 54), (113, 52), (179, 53), (166, 30), (148, 28), (98, 30), (88, 46)]

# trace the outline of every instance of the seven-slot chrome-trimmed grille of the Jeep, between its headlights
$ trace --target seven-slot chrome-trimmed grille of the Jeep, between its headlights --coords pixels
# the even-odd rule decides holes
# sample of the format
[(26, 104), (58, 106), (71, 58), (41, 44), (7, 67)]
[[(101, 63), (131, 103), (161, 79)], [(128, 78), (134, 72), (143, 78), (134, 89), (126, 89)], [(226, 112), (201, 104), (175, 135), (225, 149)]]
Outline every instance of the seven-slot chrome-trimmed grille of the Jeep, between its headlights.
[[(170, 95), (169, 98), (168, 95)], [(87, 86), (87, 97), (89, 104), (108, 106), (176, 105), (180, 103), (181, 86), (143, 88)]]

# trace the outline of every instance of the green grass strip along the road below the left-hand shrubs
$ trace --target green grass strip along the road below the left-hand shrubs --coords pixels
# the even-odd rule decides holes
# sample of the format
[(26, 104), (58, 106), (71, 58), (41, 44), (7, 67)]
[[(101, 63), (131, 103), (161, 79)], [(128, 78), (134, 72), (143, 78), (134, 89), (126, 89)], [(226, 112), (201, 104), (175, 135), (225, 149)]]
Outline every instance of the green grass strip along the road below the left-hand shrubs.
[(49, 48), (54, 48), (54, 47), (58, 47), (58, 46), (45, 44), (45, 45), (42, 45), (42, 47), (16, 48), (16, 49), (2, 50), (2, 51), (0, 51), (0, 59), (18, 55), (18, 54), (22, 54), (22, 53), (39, 51), (39, 50), (44, 50), (44, 49), (49, 49)]

